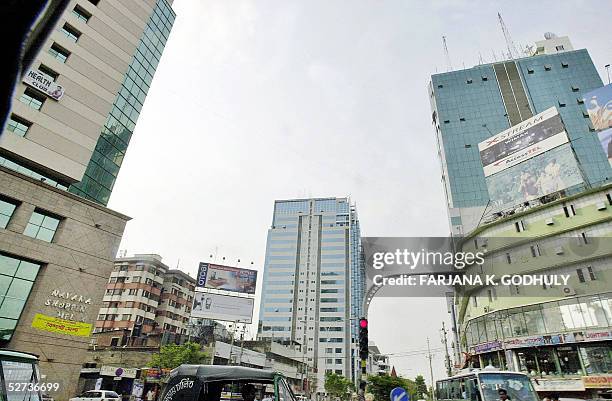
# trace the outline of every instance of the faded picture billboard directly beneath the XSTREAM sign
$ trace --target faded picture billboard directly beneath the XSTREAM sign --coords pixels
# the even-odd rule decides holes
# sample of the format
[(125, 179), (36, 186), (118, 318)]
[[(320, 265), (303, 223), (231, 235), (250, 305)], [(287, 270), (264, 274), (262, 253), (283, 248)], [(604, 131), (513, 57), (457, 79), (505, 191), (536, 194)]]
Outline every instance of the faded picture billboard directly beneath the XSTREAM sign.
[(491, 205), (510, 207), (581, 184), (570, 144), (486, 178)]

